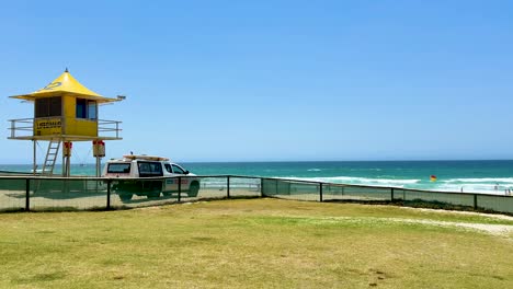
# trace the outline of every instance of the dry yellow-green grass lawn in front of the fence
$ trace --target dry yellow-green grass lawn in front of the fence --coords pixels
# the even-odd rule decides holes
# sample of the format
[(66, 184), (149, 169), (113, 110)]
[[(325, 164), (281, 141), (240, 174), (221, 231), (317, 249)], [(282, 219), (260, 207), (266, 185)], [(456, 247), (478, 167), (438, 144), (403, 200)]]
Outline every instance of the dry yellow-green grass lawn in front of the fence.
[(0, 287), (513, 288), (512, 232), (491, 215), (277, 199), (1, 213)]

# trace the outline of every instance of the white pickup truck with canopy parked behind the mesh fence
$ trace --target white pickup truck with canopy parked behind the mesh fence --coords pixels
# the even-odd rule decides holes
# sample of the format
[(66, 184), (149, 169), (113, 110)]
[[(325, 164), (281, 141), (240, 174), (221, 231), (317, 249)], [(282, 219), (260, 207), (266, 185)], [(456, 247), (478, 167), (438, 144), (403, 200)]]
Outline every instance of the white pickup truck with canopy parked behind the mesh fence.
[[(195, 197), (200, 190), (200, 178), (194, 177), (195, 174), (162, 157), (127, 154), (123, 159), (112, 159), (103, 167), (102, 176), (116, 178), (111, 189), (123, 201), (130, 200), (134, 195), (158, 198), (160, 194), (179, 193), (179, 176), (182, 176), (182, 193)], [(148, 177), (158, 180), (145, 180)]]

